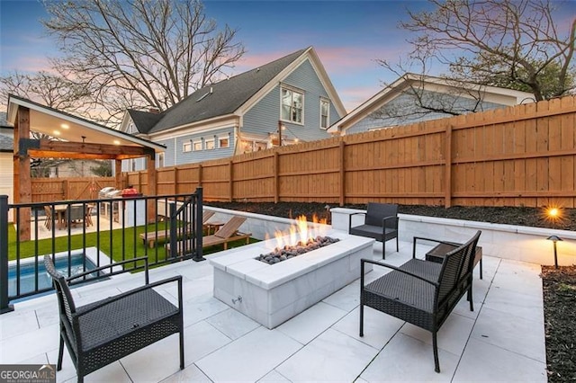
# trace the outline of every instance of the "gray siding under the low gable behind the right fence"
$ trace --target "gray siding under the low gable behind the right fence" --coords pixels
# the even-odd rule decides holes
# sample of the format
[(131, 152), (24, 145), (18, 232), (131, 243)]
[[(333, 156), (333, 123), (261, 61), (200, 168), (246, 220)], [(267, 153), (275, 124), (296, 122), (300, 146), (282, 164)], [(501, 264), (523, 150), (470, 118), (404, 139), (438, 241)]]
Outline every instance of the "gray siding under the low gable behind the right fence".
[[(425, 91), (422, 95), (424, 102), (430, 102), (430, 105), (441, 106), (453, 105), (452, 109), (459, 111), (462, 114), (470, 112), (474, 108), (476, 111), (488, 111), (491, 109), (497, 109), (505, 107), (506, 105), (500, 105), (494, 102), (480, 102), (476, 106), (476, 100), (457, 97), (453, 94), (438, 94), (436, 92)], [(452, 117), (452, 114), (441, 113), (441, 112), (430, 112), (418, 106), (418, 102), (415, 100), (415, 96), (411, 94), (401, 94), (391, 102), (386, 103), (380, 108), (382, 112), (381, 116), (374, 117), (374, 115), (369, 115), (363, 120), (356, 122), (356, 124), (350, 126), (347, 129), (346, 134), (354, 134), (365, 132), (370, 129), (387, 128), (399, 125), (406, 125), (411, 123), (416, 123), (426, 120), (437, 120), (446, 117)], [(386, 112), (392, 114), (394, 117), (386, 117)], [(402, 117), (396, 117), (402, 116)]]

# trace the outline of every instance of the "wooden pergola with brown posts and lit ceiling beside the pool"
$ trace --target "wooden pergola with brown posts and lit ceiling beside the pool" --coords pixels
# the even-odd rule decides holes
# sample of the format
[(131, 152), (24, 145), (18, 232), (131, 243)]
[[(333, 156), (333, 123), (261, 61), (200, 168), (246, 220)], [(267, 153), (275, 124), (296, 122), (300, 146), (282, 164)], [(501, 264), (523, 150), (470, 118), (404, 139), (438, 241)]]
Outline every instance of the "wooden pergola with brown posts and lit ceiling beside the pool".
[[(31, 202), (31, 158), (73, 158), (114, 160), (116, 188), (121, 189), (121, 161), (147, 157), (147, 195), (157, 194), (156, 153), (166, 147), (120, 130), (57, 111), (11, 94), (7, 120), (14, 124), (14, 203)], [(33, 139), (31, 132), (58, 138)], [(30, 214), (23, 210), (18, 230), (22, 240), (31, 237)], [(148, 206), (150, 217), (155, 206)]]

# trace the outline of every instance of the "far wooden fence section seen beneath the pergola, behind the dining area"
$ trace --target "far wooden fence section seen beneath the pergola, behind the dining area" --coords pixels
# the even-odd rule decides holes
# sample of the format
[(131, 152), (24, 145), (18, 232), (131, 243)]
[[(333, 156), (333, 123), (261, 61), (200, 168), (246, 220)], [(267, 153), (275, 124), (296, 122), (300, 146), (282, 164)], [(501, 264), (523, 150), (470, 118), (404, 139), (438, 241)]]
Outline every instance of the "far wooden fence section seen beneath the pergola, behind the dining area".
[(114, 185), (114, 177), (32, 178), (31, 200), (95, 200), (98, 198), (98, 191)]

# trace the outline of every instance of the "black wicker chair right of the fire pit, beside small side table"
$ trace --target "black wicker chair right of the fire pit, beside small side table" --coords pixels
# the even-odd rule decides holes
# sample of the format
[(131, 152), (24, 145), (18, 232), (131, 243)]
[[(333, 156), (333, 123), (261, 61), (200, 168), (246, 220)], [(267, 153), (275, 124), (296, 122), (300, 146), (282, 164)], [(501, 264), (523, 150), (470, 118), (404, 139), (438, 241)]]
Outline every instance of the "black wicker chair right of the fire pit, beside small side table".
[[(364, 336), (364, 307), (373, 307), (432, 333), (434, 364), (440, 372), (437, 332), (460, 298), (468, 294), (473, 311), (473, 256), (481, 231), (444, 256), (443, 263), (411, 259), (400, 267), (363, 259), (360, 273), (360, 336)], [(392, 272), (365, 285), (365, 263)]]

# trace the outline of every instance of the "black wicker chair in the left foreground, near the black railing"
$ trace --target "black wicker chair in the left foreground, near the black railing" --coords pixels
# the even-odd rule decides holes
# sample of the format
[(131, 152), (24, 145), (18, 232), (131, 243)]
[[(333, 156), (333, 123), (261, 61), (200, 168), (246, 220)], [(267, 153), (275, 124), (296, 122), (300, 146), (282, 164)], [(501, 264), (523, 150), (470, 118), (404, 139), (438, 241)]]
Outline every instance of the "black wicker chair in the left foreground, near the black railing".
[[(146, 285), (117, 296), (76, 307), (68, 282), (86, 280), (86, 276), (112, 269), (123, 263), (145, 262)], [(76, 367), (78, 382), (85, 375), (118, 361), (149, 344), (178, 333), (180, 336), (180, 369), (184, 369), (184, 321), (182, 313), (182, 276), (148, 283), (148, 258), (113, 263), (65, 279), (50, 255), (44, 256), (46, 271), (57, 290), (60, 317), (60, 343), (57, 370), (62, 370), (64, 343)], [(89, 281), (89, 280), (88, 280)], [(154, 288), (177, 283), (178, 307)]]

